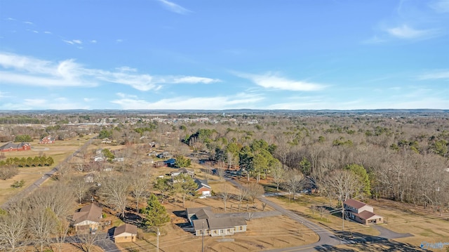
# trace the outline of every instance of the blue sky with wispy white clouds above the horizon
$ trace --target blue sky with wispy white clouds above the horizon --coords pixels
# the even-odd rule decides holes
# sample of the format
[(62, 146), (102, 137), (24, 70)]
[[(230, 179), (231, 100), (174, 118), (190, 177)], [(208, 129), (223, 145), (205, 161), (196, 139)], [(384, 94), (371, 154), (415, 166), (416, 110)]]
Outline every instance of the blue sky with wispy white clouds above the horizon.
[(449, 109), (449, 0), (0, 0), (0, 110)]

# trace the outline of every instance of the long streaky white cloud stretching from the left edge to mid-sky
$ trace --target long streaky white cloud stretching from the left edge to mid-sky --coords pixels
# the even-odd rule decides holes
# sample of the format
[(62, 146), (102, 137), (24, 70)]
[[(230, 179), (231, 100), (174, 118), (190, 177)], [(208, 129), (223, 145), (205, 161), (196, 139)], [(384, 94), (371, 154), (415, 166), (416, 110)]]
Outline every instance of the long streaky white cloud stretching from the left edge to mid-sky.
[(159, 90), (166, 84), (210, 84), (206, 77), (138, 74), (137, 69), (119, 67), (111, 72), (89, 69), (73, 59), (51, 62), (11, 53), (0, 53), (0, 82), (26, 86), (98, 86), (99, 81), (131, 86), (139, 91)]

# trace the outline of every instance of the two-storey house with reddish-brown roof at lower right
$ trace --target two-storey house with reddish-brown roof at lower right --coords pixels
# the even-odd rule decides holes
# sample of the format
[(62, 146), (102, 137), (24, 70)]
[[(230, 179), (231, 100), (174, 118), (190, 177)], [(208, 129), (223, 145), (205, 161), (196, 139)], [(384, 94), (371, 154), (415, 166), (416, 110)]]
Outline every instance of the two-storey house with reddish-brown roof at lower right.
[(351, 220), (355, 220), (363, 225), (370, 223), (384, 223), (384, 218), (374, 213), (373, 206), (369, 206), (355, 199), (347, 199), (343, 202), (344, 210)]

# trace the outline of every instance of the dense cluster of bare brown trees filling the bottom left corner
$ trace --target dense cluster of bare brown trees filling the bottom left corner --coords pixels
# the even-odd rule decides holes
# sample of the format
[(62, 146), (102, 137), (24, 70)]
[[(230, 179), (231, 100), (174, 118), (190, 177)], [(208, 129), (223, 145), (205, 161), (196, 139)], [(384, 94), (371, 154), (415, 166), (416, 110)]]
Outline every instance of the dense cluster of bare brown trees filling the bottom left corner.
[(0, 250), (21, 251), (24, 246), (37, 245), (43, 251), (56, 239), (62, 251), (74, 202), (70, 187), (58, 183), (0, 211)]

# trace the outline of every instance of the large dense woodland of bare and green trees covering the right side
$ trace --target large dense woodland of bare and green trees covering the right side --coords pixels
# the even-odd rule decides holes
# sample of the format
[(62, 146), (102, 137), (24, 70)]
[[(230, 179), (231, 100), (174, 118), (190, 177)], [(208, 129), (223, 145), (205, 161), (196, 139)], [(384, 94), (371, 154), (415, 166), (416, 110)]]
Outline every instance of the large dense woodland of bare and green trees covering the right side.
[[(194, 130), (185, 124), (180, 139), (219, 164), (239, 164), (256, 180), (267, 173), (276, 187), (301, 190), (304, 185), (287, 185), (282, 178), (293, 170), (340, 202), (383, 197), (435, 209), (449, 206), (448, 118), (255, 119), (259, 127), (223, 123)], [(182, 137), (186, 131), (188, 137)]]

